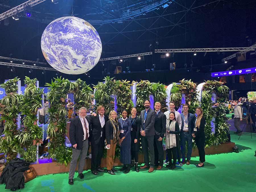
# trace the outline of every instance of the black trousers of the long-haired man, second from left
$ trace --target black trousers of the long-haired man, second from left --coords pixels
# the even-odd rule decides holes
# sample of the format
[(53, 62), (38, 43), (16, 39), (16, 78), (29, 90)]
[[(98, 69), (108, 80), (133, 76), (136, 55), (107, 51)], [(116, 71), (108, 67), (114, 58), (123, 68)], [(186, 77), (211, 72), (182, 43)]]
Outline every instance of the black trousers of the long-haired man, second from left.
[(104, 148), (104, 141), (102, 137), (100, 138), (99, 143), (95, 143), (95, 141), (91, 141), (92, 147), (92, 161), (91, 161), (91, 171), (96, 171), (100, 168), (101, 158)]

